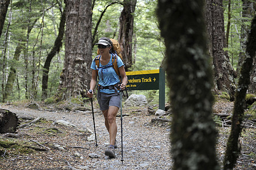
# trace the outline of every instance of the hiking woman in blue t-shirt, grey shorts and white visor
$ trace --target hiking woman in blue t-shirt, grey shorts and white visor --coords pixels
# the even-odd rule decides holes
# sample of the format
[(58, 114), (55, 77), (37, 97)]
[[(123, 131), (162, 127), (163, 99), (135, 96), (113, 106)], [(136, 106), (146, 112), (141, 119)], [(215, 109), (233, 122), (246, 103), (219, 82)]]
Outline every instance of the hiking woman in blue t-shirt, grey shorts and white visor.
[[(116, 146), (116, 133), (117, 133), (117, 126), (116, 126), (116, 114), (119, 111), (120, 107), (120, 89), (124, 90), (127, 84), (127, 75), (125, 74), (124, 70), (124, 63), (120, 57), (116, 55), (114, 57), (114, 53), (112, 51), (113, 45), (112, 41), (106, 37), (103, 37), (99, 40), (98, 43), (98, 50), (100, 56), (99, 66), (96, 65), (95, 59), (91, 63), (91, 82), (90, 82), (90, 90), (94, 90), (97, 77), (99, 76), (98, 80), (98, 103), (100, 107), (100, 111), (102, 111), (104, 119), (105, 119), (105, 126), (108, 130), (109, 137), (110, 137), (110, 146), (105, 151), (105, 155), (110, 156), (111, 158), (115, 157), (115, 149)], [(121, 82), (119, 79), (119, 75), (116, 74), (114, 69), (114, 62), (112, 58), (117, 59), (117, 67), (121, 76)], [(97, 73), (98, 71), (98, 73)], [(87, 95), (91, 98), (93, 94), (89, 91)]]

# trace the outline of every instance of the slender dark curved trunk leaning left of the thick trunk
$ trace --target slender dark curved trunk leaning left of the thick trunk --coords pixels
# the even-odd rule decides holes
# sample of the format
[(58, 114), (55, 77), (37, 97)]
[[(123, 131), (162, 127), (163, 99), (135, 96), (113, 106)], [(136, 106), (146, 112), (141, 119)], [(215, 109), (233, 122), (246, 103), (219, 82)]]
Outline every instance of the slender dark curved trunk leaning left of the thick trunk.
[(61, 14), (60, 26), (58, 27), (58, 36), (54, 42), (54, 46), (51, 52), (48, 54), (43, 69), (43, 77), (42, 77), (42, 100), (47, 98), (47, 89), (48, 89), (48, 73), (51, 65), (52, 58), (56, 53), (60, 52), (60, 48), (62, 46), (62, 39), (64, 36), (65, 30), (65, 21), (66, 21), (66, 7), (64, 7), (64, 11)]

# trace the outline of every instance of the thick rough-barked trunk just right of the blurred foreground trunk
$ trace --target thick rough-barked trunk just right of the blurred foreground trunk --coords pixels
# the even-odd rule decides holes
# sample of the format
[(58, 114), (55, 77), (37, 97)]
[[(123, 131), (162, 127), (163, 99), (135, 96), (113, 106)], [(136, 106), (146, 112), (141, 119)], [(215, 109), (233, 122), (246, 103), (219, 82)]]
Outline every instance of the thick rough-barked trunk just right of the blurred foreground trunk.
[(223, 0), (207, 0), (205, 5), (205, 19), (207, 23), (207, 35), (209, 39), (208, 50), (213, 58), (215, 84), (217, 90), (226, 91), (230, 98), (234, 99), (236, 89), (234, 71), (229, 61), (226, 48)]

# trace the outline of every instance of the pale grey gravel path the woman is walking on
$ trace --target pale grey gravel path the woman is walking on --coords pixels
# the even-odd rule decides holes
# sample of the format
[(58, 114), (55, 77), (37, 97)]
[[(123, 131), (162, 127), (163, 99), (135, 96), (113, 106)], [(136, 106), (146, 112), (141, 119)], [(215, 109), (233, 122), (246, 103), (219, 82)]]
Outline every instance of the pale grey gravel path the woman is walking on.
[[(91, 112), (48, 112), (19, 108), (14, 105), (2, 105), (1, 108), (8, 109), (19, 117), (44, 117), (53, 121), (66, 120), (76, 125), (77, 129), (93, 130)], [(130, 114), (130, 116), (123, 117), (123, 164), (121, 162), (120, 117), (117, 117), (117, 155), (115, 159), (109, 159), (104, 155), (108, 143), (104, 118), (98, 110), (95, 110), (98, 147), (95, 146), (95, 141), (84, 141), (84, 145), (89, 150), (83, 151), (81, 158), (77, 158), (70, 165), (76, 169), (170, 169), (172, 162), (169, 154), (169, 129), (161, 125), (150, 125), (155, 116), (148, 115), (146, 108), (140, 108), (140, 110), (140, 112), (131, 113), (123, 109), (123, 114)], [(72, 137), (70, 140), (73, 140)], [(89, 158), (89, 154), (96, 154), (99, 158)], [(64, 161), (61, 167), (60, 165), (56, 167), (56, 169), (68, 168), (70, 167)]]

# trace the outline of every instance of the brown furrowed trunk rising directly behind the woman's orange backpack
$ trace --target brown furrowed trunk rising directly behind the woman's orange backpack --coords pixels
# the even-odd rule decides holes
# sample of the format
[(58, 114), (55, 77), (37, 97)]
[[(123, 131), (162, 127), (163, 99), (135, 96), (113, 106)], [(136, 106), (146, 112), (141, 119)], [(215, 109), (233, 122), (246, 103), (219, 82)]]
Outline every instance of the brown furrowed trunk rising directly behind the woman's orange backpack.
[(124, 9), (120, 15), (120, 29), (118, 42), (122, 49), (122, 56), (127, 71), (132, 65), (132, 37), (133, 37), (133, 12), (135, 11), (136, 0), (124, 0)]

